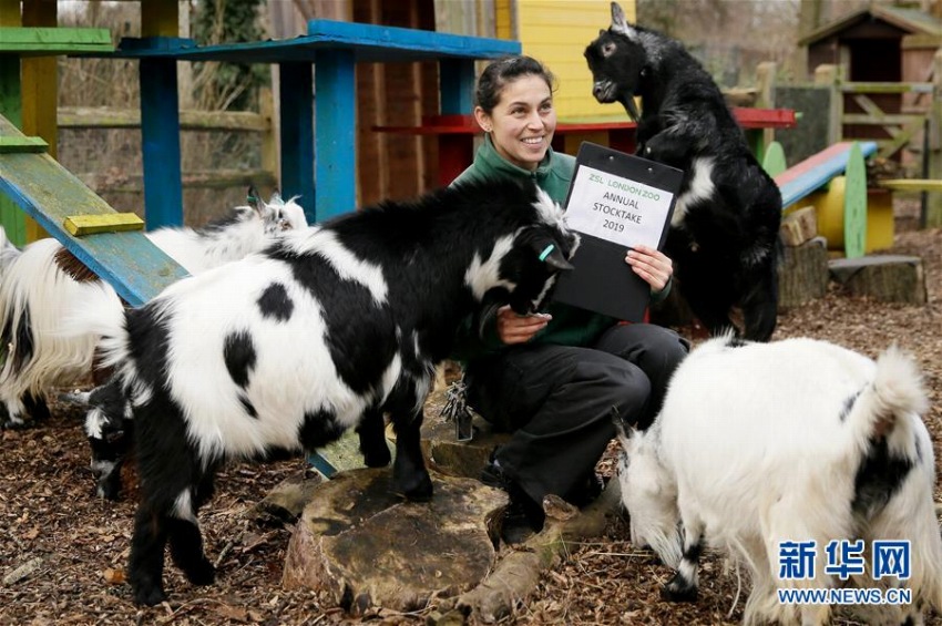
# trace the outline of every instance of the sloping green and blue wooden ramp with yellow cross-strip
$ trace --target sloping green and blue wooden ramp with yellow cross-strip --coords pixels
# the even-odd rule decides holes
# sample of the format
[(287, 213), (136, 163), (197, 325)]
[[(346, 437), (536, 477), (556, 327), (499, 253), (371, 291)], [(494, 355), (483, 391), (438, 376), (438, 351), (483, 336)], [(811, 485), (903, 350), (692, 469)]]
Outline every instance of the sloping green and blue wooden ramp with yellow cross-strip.
[[(166, 286), (188, 276), (185, 269), (144, 236), (142, 230), (72, 235), (76, 216), (119, 217), (107, 203), (45, 153), (45, 142), (23, 135), (0, 115), (0, 194), (6, 194), (47, 233), (59, 239), (85, 266), (114, 287), (132, 306), (140, 306)], [(121, 228), (121, 220), (115, 222)], [(311, 464), (326, 478), (362, 466), (356, 433), (350, 431)]]

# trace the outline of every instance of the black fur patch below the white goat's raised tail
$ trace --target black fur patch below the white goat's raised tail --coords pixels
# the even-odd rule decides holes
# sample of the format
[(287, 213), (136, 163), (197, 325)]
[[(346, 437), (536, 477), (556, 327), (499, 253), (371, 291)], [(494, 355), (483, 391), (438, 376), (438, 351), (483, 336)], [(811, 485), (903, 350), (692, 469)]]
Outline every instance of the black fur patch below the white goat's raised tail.
[(853, 513), (862, 520), (870, 520), (900, 490), (912, 469), (912, 460), (890, 453), (885, 438), (871, 439), (867, 456), (861, 460), (853, 481)]

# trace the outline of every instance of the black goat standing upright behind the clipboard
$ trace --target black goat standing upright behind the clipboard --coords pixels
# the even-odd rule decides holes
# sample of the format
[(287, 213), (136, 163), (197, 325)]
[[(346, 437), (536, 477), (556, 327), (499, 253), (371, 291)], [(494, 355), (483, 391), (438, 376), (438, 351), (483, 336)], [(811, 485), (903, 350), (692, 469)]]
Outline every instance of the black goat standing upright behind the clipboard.
[(735, 328), (738, 306), (743, 336), (767, 341), (778, 309), (781, 194), (719, 88), (680, 42), (628, 24), (617, 2), (585, 58), (596, 100), (622, 103), (637, 121), (637, 154), (685, 172), (665, 252), (690, 310), (716, 335)]

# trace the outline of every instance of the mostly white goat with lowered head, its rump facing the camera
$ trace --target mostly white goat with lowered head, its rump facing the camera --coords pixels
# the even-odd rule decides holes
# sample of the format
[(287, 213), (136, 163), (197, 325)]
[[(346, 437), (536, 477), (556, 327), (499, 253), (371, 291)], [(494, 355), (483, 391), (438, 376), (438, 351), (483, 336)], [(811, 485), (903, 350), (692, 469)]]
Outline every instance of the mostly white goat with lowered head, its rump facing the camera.
[[(677, 368), (652, 428), (620, 434), (632, 543), (677, 569), (668, 599), (696, 598), (707, 544), (751, 573), (745, 623), (812, 625), (827, 623), (829, 605), (781, 604), (777, 587), (840, 586), (826, 568), (832, 541), (860, 540), (868, 553), (874, 541), (907, 541), (908, 579), (857, 583), (912, 593), (868, 623), (922, 624), (922, 610), (942, 608), (926, 408), (920, 372), (894, 347), (874, 362), (812, 339), (710, 339)], [(782, 576), (789, 542), (815, 542), (807, 577)]]

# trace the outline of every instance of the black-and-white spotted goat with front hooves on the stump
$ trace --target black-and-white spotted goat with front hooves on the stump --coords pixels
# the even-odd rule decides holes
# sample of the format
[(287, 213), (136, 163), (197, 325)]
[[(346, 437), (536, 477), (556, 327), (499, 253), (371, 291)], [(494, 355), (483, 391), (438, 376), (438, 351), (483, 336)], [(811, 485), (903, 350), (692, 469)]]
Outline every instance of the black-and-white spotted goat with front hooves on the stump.
[(227, 459), (314, 450), (357, 427), (361, 445), (385, 448), (388, 412), (392, 491), (430, 499), (422, 406), (458, 326), (504, 304), (537, 310), (577, 244), (532, 183), (468, 183), (287, 233), (126, 314), (90, 311), (132, 403), (135, 602), (166, 597), (167, 543), (192, 583), (213, 582), (196, 514)]

